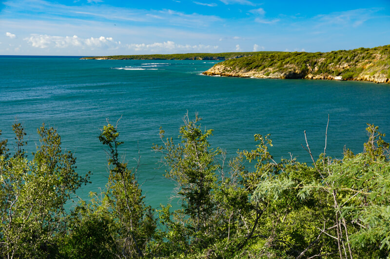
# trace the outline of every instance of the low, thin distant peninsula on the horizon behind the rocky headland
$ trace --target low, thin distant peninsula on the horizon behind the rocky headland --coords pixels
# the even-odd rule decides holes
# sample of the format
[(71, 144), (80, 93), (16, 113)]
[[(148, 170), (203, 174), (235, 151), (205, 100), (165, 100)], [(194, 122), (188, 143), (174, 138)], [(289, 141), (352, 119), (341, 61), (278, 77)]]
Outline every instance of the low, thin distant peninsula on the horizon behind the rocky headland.
[(241, 57), (248, 57), (260, 54), (269, 54), (275, 52), (225, 52), (225, 53), (186, 53), (186, 54), (150, 54), (150, 55), (117, 55), (117, 56), (93, 56), (82, 57), (80, 59), (99, 59), (99, 60), (229, 60)]

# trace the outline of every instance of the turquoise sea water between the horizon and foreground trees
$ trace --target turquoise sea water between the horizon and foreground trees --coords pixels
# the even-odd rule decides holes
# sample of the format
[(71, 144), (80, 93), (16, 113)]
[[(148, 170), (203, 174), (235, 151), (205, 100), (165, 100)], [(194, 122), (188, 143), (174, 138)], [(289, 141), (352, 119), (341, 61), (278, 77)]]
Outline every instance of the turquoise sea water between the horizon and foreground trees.
[[(271, 80), (209, 77), (200, 72), (211, 61), (79, 60), (77, 57), (0, 57), (0, 138), (13, 139), (17, 119), (28, 133), (30, 151), (36, 129), (45, 122), (58, 129), (63, 147), (77, 156), (78, 173), (92, 171), (92, 184), (79, 192), (104, 188), (106, 155), (97, 136), (106, 118), (118, 123), (124, 159), (136, 166), (147, 202), (167, 203), (173, 183), (159, 168), (162, 126), (177, 137), (183, 115), (195, 112), (214, 129), (211, 143), (232, 156), (254, 149), (253, 135), (271, 133), (275, 158), (297, 156), (310, 162), (302, 148), (306, 130), (315, 156), (324, 150), (341, 158), (346, 145), (363, 150), (366, 122), (390, 134), (390, 85), (367, 82)], [(389, 138), (387, 138), (389, 141)], [(12, 146), (11, 146), (12, 149)], [(31, 156), (31, 155), (30, 155)]]

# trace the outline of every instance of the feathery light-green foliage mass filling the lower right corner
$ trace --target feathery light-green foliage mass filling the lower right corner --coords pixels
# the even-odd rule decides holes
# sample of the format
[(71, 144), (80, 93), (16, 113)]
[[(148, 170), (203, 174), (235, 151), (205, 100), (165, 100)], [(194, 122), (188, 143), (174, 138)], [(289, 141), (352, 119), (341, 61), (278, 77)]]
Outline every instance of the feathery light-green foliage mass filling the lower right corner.
[[(282, 244), (278, 250), (295, 258), (389, 256), (389, 144), (378, 127), (368, 124), (367, 131), (361, 154), (321, 154), (313, 167), (290, 160), (263, 175), (253, 199), (268, 203), (265, 216), (274, 224), (263, 235)], [(308, 143), (307, 150), (312, 157)]]

